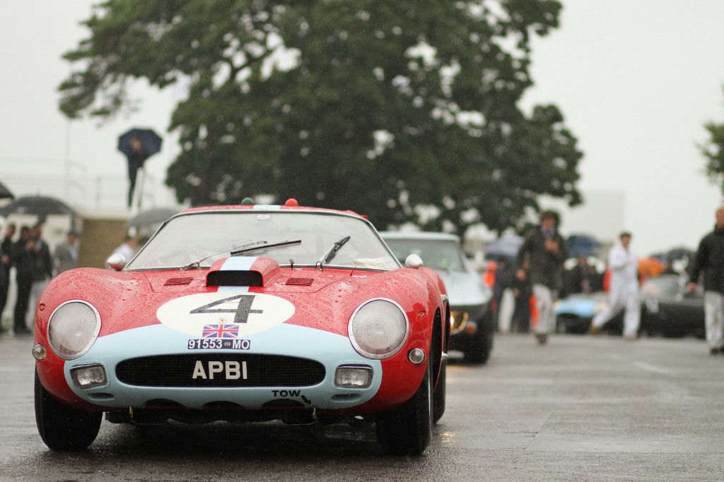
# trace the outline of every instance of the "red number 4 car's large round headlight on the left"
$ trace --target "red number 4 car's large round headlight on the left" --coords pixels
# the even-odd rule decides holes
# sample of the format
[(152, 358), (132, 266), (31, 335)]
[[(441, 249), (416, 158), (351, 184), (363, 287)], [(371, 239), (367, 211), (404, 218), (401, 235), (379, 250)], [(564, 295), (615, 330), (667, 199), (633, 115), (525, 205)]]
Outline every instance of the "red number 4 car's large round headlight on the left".
[(85, 301), (66, 301), (51, 314), (48, 343), (57, 356), (72, 360), (83, 355), (101, 331), (101, 317)]

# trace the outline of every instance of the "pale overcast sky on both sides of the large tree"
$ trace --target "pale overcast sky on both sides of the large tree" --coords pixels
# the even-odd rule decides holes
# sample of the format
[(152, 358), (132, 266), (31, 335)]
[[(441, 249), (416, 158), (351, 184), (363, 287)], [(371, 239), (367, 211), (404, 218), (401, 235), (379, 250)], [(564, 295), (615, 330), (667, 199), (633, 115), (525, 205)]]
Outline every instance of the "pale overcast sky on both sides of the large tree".
[[(60, 55), (85, 36), (78, 23), (91, 4), (0, 1), (0, 181), (18, 194), (59, 189), (63, 160), (70, 158), (74, 175), (86, 173), (84, 185), (70, 190), (72, 202), (117, 205), (125, 190), (118, 134), (134, 125), (163, 133), (169, 124), (177, 100), (172, 89), (142, 92), (138, 113), (102, 126), (69, 123), (59, 113), (56, 87), (69, 72)], [(696, 246), (722, 201), (703, 175), (696, 143), (706, 138), (706, 121), (724, 121), (724, 1), (563, 4), (560, 29), (534, 42), (536, 85), (523, 105), (561, 108), (585, 153), (583, 191), (622, 193), (623, 215), (601, 209), (592, 217), (623, 218), (642, 253)], [(166, 134), (164, 149), (148, 160), (156, 205), (172, 202), (161, 182), (176, 153)], [(564, 219), (563, 228), (578, 226)]]

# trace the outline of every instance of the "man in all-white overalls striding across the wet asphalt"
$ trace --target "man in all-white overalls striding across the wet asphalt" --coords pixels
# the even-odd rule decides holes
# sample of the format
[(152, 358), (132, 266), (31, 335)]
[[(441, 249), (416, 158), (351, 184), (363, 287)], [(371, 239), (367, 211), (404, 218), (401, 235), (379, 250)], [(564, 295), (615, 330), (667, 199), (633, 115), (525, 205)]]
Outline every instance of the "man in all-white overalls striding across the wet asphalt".
[(623, 315), (623, 337), (635, 340), (639, 337), (641, 318), (639, 260), (629, 247), (631, 233), (621, 233), (618, 238), (620, 242), (608, 252), (608, 267), (611, 270), (608, 306), (594, 317), (591, 333), (597, 335), (604, 324), (626, 309)]

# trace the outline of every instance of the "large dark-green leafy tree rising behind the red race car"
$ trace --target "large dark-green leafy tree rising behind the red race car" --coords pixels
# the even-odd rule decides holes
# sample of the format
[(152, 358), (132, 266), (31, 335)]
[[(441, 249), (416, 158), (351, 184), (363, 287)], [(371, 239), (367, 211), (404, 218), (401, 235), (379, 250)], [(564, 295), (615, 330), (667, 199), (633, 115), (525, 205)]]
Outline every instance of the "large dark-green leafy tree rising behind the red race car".
[[(531, 113), (531, 35), (557, 0), (107, 0), (64, 58), (62, 111), (112, 116), (146, 79), (189, 85), (167, 184), (195, 205), (252, 194), (460, 233), (581, 201), (555, 106)], [(428, 209), (425, 209), (428, 207)], [(431, 215), (432, 212), (432, 215)]]

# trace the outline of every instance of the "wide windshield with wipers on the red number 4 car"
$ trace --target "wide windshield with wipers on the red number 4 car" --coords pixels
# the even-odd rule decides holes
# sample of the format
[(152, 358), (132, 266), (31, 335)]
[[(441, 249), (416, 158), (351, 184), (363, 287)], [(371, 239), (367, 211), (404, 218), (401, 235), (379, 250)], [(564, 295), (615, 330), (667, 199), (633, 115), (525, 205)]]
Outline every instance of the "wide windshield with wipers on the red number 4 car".
[[(260, 256), (279, 264), (314, 266), (340, 238), (349, 241), (337, 251), (330, 266), (371, 270), (399, 267), (374, 228), (359, 218), (327, 212), (244, 210), (193, 212), (172, 218), (127, 264), (127, 270), (180, 268), (190, 263), (209, 267), (241, 246), (258, 244), (240, 256)], [(299, 240), (271, 246), (279, 241)], [(266, 244), (270, 246), (263, 246)], [(225, 251), (224, 251), (225, 250)]]

